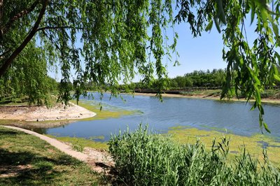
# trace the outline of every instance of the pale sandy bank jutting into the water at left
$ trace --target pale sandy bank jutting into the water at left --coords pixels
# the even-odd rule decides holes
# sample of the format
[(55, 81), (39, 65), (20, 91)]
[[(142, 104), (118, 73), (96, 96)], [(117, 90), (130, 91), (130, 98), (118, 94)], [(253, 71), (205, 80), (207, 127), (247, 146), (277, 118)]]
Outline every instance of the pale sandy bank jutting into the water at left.
[(94, 117), (96, 113), (81, 106), (70, 103), (64, 108), (63, 104), (55, 104), (52, 108), (46, 106), (0, 106), (0, 120), (21, 121), (54, 121), (77, 120)]

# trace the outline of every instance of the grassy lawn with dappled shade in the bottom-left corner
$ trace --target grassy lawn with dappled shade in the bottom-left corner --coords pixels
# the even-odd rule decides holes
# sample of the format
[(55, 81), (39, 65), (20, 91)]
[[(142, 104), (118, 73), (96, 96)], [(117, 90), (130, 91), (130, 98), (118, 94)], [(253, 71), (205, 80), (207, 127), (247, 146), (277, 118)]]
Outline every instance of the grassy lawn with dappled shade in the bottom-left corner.
[(0, 127), (0, 185), (103, 185), (87, 164), (35, 136)]

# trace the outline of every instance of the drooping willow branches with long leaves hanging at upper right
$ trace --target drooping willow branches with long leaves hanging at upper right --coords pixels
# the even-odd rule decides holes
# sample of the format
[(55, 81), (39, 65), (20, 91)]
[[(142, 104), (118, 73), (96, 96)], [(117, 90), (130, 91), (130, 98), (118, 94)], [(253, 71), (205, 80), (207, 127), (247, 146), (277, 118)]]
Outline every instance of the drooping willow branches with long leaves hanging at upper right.
[[(223, 34), (223, 59), (228, 66), (221, 98), (234, 91), (237, 97), (241, 94), (247, 101), (255, 99), (252, 109), (260, 110), (260, 127), (269, 131), (263, 121), (265, 113), (260, 94), (280, 81), (280, 1), (181, 0), (177, 1), (177, 7), (176, 21), (189, 22), (194, 36), (211, 30), (213, 25)], [(253, 27), (254, 32), (248, 32), (248, 27)], [(248, 42), (247, 34), (255, 36), (253, 43)]]

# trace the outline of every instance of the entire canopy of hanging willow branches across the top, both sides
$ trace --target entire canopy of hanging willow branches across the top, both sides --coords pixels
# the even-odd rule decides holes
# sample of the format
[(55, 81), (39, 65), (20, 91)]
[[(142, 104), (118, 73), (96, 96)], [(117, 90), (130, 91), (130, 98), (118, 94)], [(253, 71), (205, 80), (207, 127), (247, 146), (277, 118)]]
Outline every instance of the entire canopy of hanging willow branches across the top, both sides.
[[(85, 93), (85, 82), (109, 83), (117, 94), (120, 80), (130, 83), (136, 73), (144, 83), (156, 75), (160, 92), (167, 85), (162, 59), (172, 61), (178, 37), (174, 32), (167, 42), (167, 28), (188, 22), (196, 37), (215, 24), (228, 64), (221, 97), (234, 86), (255, 99), (260, 127), (268, 130), (260, 92), (280, 80), (279, 5), (273, 0), (0, 0), (0, 86), (16, 94), (23, 84), (25, 92), (44, 90), (34, 91), (39, 101), (50, 87), (43, 85), (47, 69), (58, 64), (63, 101), (71, 99), (71, 69), (76, 98)], [(253, 43), (247, 41), (246, 19), (255, 27)]]

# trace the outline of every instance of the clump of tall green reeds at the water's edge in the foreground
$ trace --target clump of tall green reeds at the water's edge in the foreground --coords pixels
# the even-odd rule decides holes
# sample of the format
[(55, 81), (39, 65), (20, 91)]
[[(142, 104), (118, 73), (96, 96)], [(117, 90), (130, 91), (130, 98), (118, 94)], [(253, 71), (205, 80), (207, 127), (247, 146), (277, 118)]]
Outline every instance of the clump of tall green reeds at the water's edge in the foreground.
[(229, 141), (213, 141), (207, 151), (199, 140), (179, 145), (147, 127), (111, 136), (109, 151), (123, 185), (280, 185), (280, 169), (253, 159), (246, 150), (229, 164)]

